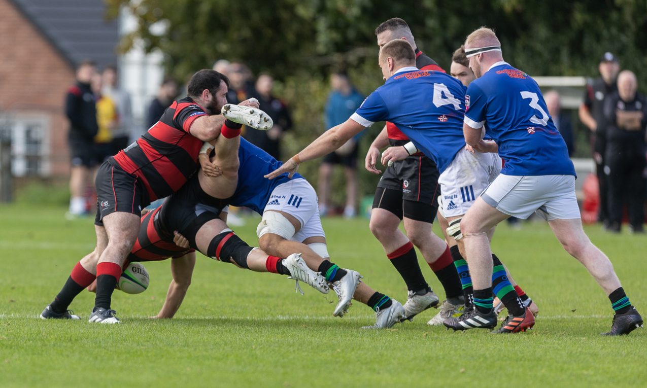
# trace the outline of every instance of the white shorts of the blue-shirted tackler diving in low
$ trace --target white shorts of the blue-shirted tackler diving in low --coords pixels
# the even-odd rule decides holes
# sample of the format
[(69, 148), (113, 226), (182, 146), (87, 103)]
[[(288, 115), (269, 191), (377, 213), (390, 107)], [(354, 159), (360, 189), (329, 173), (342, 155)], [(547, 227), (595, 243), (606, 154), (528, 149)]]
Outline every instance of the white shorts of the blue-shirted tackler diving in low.
[(325, 237), (319, 217), (317, 193), (303, 178), (294, 178), (276, 186), (263, 209), (267, 210), (283, 211), (299, 221), (301, 228), (291, 240), (303, 242), (308, 237)]

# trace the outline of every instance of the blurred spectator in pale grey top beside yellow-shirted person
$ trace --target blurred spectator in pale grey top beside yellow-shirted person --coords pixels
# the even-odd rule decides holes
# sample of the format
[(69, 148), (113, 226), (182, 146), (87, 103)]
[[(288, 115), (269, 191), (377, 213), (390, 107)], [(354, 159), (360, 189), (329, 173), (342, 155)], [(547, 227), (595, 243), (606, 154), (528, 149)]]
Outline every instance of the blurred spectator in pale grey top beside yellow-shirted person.
[(133, 109), (130, 103), (130, 94), (120, 89), (117, 79), (117, 68), (114, 65), (105, 67), (102, 74), (101, 94), (115, 102), (117, 117), (112, 126), (113, 140), (110, 155), (115, 155), (130, 144), (133, 131)]

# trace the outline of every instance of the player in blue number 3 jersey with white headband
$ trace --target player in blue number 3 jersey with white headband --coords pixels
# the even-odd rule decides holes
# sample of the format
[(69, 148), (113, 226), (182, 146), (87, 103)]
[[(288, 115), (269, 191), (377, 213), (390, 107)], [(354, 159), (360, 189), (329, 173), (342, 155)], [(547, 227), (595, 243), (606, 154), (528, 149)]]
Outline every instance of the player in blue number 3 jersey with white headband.
[[(489, 28), (479, 28), (466, 38), (465, 53), (477, 77), (465, 96), (465, 141), (477, 151), (498, 152), (506, 163), (461, 222), (476, 308), (444, 324), (456, 330), (494, 327), (489, 275), (492, 254), (487, 233), (510, 216), (527, 219), (536, 211), (548, 221), (564, 249), (584, 264), (608, 295), (615, 315), (611, 330), (604, 334), (630, 333), (642, 325), (642, 317), (626, 296), (611, 261), (582, 229), (575, 198), (575, 168), (537, 83), (503, 61), (501, 43)], [(484, 141), (485, 133), (495, 142)], [(510, 312), (498, 332), (518, 332), (533, 324), (529, 310), (523, 314)]]

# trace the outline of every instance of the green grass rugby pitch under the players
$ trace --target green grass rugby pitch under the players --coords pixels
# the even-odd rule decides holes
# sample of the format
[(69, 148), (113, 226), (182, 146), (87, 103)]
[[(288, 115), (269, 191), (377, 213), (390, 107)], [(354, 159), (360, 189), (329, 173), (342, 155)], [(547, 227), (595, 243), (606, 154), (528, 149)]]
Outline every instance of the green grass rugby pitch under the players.
[[(147, 318), (170, 281), (169, 263), (160, 262), (147, 264), (146, 292), (115, 292), (123, 325), (87, 323), (88, 292), (71, 306), (81, 321), (42, 321), (38, 314), (94, 244), (92, 220), (65, 221), (64, 212), (0, 206), (0, 387), (647, 386), (647, 330), (598, 335), (611, 325), (608, 299), (541, 222), (518, 231), (504, 225), (495, 237), (494, 251), (540, 307), (535, 330), (498, 336), (428, 327), (436, 310), (393, 329), (362, 330), (375, 319), (364, 305), (333, 318), (334, 296), (307, 286), (301, 296), (284, 277), (204, 257), (175, 319)], [(254, 242), (257, 222), (237, 233)], [(326, 219), (324, 227), (333, 261), (404, 303), (406, 287), (366, 220)], [(647, 312), (647, 237), (587, 232)], [(442, 294), (431, 270), (423, 272)]]

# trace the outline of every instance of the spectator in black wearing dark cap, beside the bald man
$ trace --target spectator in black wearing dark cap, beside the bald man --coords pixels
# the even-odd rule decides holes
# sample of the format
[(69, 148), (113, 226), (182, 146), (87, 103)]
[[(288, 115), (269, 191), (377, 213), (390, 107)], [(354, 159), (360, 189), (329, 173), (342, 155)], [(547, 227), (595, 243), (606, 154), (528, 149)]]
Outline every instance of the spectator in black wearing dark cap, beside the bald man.
[(609, 224), (608, 215), (608, 184), (606, 174), (604, 173), (604, 148), (605, 136), (604, 127), (599, 125), (603, 116), (604, 100), (613, 92), (617, 91), (616, 77), (620, 71), (620, 64), (615, 55), (605, 52), (598, 65), (600, 78), (593, 80), (586, 87), (584, 94), (584, 103), (580, 105), (578, 111), (580, 121), (591, 131), (591, 144), (593, 146), (593, 159), (595, 160), (596, 175), (600, 186), (600, 211), (598, 212), (598, 222), (603, 222), (604, 226)]

